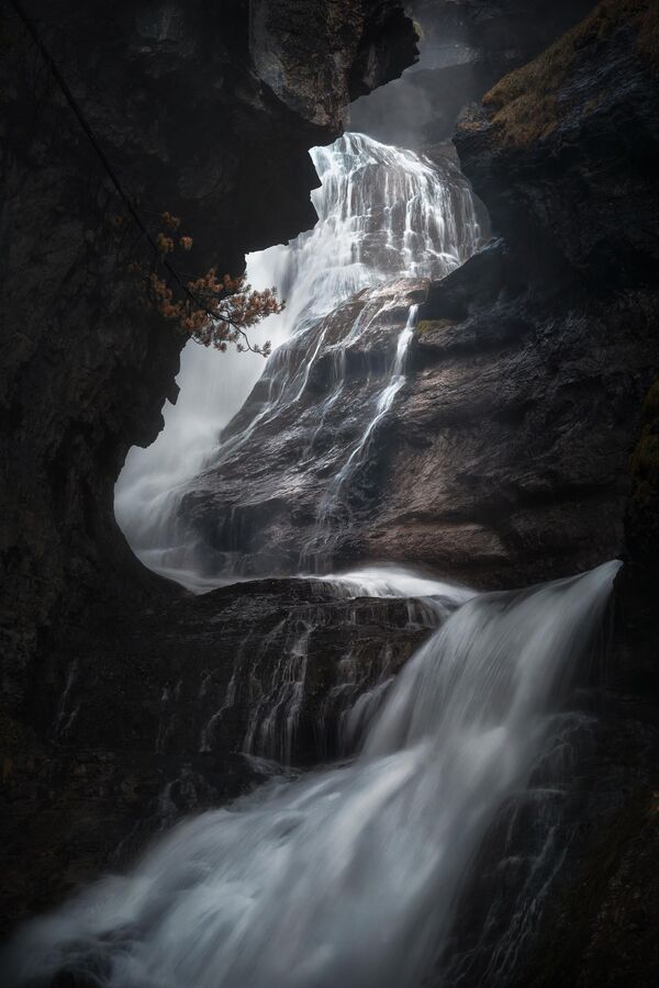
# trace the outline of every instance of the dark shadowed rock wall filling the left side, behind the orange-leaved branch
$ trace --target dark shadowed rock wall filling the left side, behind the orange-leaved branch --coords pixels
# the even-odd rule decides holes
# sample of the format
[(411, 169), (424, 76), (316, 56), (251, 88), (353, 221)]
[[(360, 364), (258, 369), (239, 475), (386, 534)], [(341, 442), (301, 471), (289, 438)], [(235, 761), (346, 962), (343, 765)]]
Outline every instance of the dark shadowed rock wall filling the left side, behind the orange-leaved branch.
[[(309, 147), (333, 141), (347, 103), (415, 57), (395, 0), (23, 7), (150, 232), (165, 210), (182, 217), (186, 277), (241, 271), (245, 251), (312, 225)], [(154, 630), (149, 613), (157, 629), (176, 624), (188, 598), (134, 560), (112, 498), (126, 451), (153, 441), (165, 398), (176, 400), (185, 339), (141, 308), (126, 268), (145, 260), (144, 244), (131, 224), (116, 233), (125, 209), (88, 137), (12, 4), (0, 14), (7, 928), (256, 776), (224, 739), (198, 765), (194, 718), (179, 725), (180, 751), (175, 730), (156, 751), (174, 675), (165, 653), (176, 664), (196, 645), (189, 626), (187, 652), (179, 632), (157, 644), (139, 629)], [(266, 620), (257, 604), (236, 609)], [(224, 649), (201, 636), (216, 670), (209, 704), (233, 660), (226, 622), (217, 637)]]

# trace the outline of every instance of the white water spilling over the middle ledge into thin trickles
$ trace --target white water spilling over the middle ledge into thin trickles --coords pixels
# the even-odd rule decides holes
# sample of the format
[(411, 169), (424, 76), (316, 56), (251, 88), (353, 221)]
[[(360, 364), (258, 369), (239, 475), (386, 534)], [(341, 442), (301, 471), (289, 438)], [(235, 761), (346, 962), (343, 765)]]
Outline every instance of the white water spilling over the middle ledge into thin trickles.
[(343, 608), (345, 626), (354, 629), (343, 658), (336, 662), (334, 683), (320, 701), (314, 742), (319, 760), (326, 757), (331, 730), (327, 725), (338, 716), (339, 750), (354, 754), (355, 741), (364, 733), (392, 681), (391, 644), (383, 636), (370, 656), (355, 654), (358, 625), (364, 621), (364, 598), (403, 598), (410, 629), (436, 629), (456, 607), (474, 595), (467, 587), (453, 586), (432, 577), (394, 566), (370, 566), (338, 576), (317, 577), (323, 594), (321, 603), (309, 603), (287, 609), (270, 632), (254, 629), (238, 648), (232, 676), (222, 704), (204, 723), (200, 751), (212, 751), (222, 738), (225, 719), (239, 706), (248, 711), (248, 722), (241, 750), (259, 757), (277, 760), (280, 765), (294, 764), (300, 712), (306, 693), (308, 664), (314, 661), (314, 632), (326, 620), (326, 598), (337, 603), (361, 598), (361, 607)]

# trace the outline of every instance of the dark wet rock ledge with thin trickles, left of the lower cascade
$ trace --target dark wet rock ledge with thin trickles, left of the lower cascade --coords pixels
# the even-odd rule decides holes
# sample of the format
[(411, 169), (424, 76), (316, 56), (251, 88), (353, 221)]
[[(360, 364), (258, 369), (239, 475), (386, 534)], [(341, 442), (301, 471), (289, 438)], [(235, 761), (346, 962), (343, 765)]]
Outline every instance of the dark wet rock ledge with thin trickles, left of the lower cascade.
[(92, 609), (32, 683), (36, 731), (0, 722), (2, 934), (182, 816), (273, 771), (354, 754), (440, 619), (420, 600), (322, 581)]

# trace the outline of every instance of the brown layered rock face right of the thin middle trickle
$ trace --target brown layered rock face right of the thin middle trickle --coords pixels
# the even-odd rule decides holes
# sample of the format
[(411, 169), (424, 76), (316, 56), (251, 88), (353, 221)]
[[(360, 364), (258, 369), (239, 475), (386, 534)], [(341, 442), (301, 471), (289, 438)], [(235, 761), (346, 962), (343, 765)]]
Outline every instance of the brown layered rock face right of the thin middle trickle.
[[(427, 322), (371, 542), (376, 551), (412, 540), (420, 558), (484, 586), (579, 572), (621, 553), (628, 453), (659, 359), (646, 322), (656, 300), (543, 302), (518, 291), (503, 251), (474, 258), (422, 307)], [(503, 281), (488, 291), (496, 271)]]

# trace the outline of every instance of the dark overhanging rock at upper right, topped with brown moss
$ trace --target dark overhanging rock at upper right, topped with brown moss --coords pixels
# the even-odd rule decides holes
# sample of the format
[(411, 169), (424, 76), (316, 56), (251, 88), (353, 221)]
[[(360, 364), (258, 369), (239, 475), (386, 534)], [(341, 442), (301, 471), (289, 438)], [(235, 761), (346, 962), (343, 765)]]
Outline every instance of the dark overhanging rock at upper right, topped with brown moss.
[(458, 128), (493, 229), (534, 280), (600, 295), (656, 284), (657, 70), (643, 9), (601, 4)]

